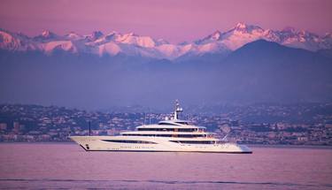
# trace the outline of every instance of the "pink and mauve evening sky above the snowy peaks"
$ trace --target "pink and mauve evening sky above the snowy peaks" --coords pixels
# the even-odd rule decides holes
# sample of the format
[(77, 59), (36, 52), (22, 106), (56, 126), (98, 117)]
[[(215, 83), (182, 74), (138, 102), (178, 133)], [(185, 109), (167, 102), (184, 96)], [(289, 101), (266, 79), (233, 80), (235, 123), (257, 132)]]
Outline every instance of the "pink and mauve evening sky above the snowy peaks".
[(0, 27), (28, 35), (115, 30), (183, 42), (238, 22), (325, 34), (332, 32), (331, 10), (330, 0), (2, 0)]

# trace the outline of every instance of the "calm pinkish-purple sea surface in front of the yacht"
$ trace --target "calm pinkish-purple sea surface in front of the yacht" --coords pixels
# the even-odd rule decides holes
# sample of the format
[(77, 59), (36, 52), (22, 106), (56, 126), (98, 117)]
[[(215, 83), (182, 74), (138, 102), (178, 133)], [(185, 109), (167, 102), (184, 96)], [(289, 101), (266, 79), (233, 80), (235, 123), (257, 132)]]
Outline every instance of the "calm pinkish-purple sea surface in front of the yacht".
[(331, 148), (251, 148), (252, 155), (228, 155), (0, 143), (0, 188), (332, 189)]

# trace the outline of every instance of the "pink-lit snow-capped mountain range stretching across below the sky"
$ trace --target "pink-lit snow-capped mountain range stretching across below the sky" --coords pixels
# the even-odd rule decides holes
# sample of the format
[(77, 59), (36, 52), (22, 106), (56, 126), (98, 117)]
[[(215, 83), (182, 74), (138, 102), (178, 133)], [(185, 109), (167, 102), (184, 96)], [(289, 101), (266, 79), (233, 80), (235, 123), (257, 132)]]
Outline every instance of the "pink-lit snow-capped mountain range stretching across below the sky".
[(39, 50), (51, 54), (55, 50), (71, 53), (91, 53), (99, 56), (128, 56), (175, 59), (183, 56), (203, 56), (234, 51), (243, 45), (264, 39), (284, 46), (317, 51), (332, 49), (332, 35), (320, 36), (304, 30), (288, 27), (281, 31), (258, 26), (236, 24), (226, 32), (216, 31), (194, 42), (171, 44), (163, 39), (153, 39), (134, 33), (120, 34), (100, 31), (81, 35), (71, 32), (66, 35), (43, 31), (35, 37), (0, 29), (0, 49), (11, 51)]

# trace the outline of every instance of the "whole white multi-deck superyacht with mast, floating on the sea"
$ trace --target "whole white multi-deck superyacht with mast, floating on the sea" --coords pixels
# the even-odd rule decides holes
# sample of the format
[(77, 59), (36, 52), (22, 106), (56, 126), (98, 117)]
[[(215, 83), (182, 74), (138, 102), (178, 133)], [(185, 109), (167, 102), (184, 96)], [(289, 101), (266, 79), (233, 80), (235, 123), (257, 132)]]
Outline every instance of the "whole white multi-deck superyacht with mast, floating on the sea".
[(173, 118), (154, 125), (140, 125), (136, 131), (117, 136), (71, 136), (86, 151), (136, 151), (136, 152), (202, 152), (246, 153), (244, 145), (222, 141), (213, 133), (205, 132), (204, 126), (191, 125), (179, 119), (183, 110), (176, 102)]

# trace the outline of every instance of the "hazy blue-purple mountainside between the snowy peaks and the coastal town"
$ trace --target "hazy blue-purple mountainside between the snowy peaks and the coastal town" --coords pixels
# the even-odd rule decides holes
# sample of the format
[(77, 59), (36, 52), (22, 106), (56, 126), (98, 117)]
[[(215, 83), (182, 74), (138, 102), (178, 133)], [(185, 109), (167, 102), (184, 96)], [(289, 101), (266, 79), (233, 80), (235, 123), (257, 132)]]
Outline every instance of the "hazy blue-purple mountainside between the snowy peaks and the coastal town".
[(63, 51), (0, 51), (2, 103), (106, 109), (140, 104), (332, 101), (332, 59), (259, 40), (224, 54), (169, 61)]

